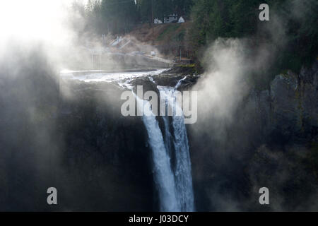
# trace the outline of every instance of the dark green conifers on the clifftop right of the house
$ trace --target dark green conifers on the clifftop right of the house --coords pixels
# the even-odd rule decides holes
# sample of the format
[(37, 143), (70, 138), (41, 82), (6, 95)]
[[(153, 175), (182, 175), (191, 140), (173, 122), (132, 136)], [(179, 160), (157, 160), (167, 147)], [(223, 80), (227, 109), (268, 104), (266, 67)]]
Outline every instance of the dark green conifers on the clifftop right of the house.
[[(259, 5), (263, 3), (269, 4), (269, 22), (259, 20)], [(277, 55), (271, 71), (298, 72), (317, 57), (317, 11), (314, 0), (197, 0), (189, 40), (196, 51), (218, 37), (248, 37), (255, 47), (273, 44)]]

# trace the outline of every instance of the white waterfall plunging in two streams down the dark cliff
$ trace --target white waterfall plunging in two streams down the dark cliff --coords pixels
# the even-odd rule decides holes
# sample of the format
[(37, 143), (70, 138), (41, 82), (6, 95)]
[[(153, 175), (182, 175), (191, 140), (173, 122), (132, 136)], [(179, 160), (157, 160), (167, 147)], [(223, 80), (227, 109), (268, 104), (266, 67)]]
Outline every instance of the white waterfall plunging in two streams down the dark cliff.
[[(166, 106), (176, 108), (175, 88), (159, 87), (160, 98)], [(151, 105), (136, 97), (139, 107), (143, 107), (143, 124), (148, 133), (148, 143), (152, 149), (155, 185), (158, 189), (160, 211), (194, 211), (189, 141), (184, 117), (163, 117), (165, 136), (163, 136)], [(181, 109), (179, 109), (181, 110)], [(151, 115), (151, 116), (146, 116)], [(174, 161), (172, 161), (174, 160)]]

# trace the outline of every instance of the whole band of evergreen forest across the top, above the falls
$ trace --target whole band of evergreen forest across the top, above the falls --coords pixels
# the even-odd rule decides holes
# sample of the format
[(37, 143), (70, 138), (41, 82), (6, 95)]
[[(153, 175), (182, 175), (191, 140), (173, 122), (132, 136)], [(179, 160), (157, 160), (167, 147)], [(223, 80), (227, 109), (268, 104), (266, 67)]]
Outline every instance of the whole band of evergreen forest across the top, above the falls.
[[(270, 20), (259, 20), (259, 5), (269, 4)], [(318, 52), (318, 1), (316, 0), (90, 0), (84, 14), (87, 27), (99, 34), (124, 34), (139, 23), (151, 23), (152, 18), (163, 20), (170, 13), (184, 16), (191, 25), (169, 37), (179, 24), (170, 24), (157, 38), (169, 37), (183, 42), (199, 63), (200, 49), (206, 49), (218, 37), (244, 38), (253, 49), (269, 47), (275, 51), (269, 69), (247, 75), (260, 89), (266, 88), (271, 76), (286, 69), (295, 73), (301, 66), (310, 65)], [(83, 13), (83, 10), (81, 10)], [(192, 54), (193, 55), (193, 54)]]

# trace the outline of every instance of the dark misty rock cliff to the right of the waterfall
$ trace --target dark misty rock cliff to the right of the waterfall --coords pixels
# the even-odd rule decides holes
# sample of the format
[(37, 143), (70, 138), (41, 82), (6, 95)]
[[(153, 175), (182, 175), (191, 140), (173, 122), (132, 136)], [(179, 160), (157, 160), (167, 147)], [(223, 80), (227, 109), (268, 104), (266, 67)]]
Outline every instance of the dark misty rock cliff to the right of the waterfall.
[(230, 122), (189, 126), (198, 210), (317, 210), (317, 66), (252, 89)]

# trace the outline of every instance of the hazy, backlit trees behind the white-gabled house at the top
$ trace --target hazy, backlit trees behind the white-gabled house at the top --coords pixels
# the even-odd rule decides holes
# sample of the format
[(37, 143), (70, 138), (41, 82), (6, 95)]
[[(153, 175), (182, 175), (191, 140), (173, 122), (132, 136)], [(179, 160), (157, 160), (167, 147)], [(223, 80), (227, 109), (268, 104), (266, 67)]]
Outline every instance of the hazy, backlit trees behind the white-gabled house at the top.
[(77, 1), (73, 8), (87, 21), (86, 30), (99, 34), (124, 34), (138, 23), (153, 23), (153, 18), (177, 13), (189, 17), (192, 0), (89, 0), (86, 6)]

